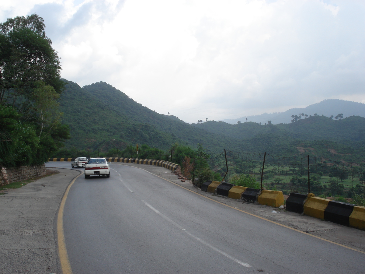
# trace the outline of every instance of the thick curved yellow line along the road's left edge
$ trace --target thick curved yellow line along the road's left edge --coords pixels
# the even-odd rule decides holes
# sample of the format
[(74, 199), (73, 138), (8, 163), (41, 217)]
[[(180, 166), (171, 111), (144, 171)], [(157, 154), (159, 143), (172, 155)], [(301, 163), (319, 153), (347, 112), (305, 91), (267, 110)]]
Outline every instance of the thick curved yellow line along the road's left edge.
[(64, 235), (64, 208), (67, 199), (67, 195), (69, 193), (70, 187), (73, 185), (78, 176), (82, 175), (84, 172), (81, 172), (77, 175), (72, 182), (67, 187), (64, 197), (62, 197), (61, 205), (59, 206), (58, 216), (57, 216), (57, 241), (58, 241), (58, 256), (59, 262), (61, 263), (62, 274), (72, 274), (72, 269), (70, 265), (70, 261), (68, 259), (66, 243), (65, 243), (65, 235)]

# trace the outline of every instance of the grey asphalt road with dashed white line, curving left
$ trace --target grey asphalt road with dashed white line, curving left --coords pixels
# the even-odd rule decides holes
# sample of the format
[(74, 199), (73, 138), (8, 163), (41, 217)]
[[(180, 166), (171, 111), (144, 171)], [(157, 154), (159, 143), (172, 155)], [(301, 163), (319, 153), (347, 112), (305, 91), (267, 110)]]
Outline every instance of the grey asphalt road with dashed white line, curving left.
[(365, 273), (364, 252), (245, 214), (130, 165), (111, 168), (110, 178), (80, 176), (70, 187), (63, 228), (74, 274)]

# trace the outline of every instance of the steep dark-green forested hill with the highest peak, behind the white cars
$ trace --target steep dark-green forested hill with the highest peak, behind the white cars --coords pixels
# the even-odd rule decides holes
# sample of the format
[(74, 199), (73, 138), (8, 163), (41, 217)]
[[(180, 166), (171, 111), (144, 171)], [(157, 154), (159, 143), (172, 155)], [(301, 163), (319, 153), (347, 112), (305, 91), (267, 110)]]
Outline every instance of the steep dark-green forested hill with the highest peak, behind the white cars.
[(99, 82), (85, 87), (66, 81), (60, 106), (63, 122), (70, 126), (66, 148), (107, 149), (147, 144), (168, 150), (174, 143), (223, 150), (234, 138), (208, 133), (172, 115), (158, 114), (130, 99), (110, 84)]

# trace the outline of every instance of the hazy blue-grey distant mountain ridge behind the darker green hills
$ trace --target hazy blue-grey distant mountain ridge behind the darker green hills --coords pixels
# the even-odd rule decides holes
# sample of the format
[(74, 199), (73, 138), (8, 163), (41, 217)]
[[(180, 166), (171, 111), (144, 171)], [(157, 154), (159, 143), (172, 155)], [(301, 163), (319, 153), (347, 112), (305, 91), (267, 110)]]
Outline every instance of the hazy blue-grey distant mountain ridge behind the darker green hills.
[(304, 113), (308, 116), (317, 113), (318, 115), (323, 114), (327, 117), (330, 117), (331, 115), (335, 117), (337, 114), (342, 113), (343, 118), (353, 115), (365, 117), (365, 104), (340, 99), (327, 99), (319, 103), (311, 104), (310, 106), (304, 108), (289, 109), (281, 113), (264, 113), (261, 115), (252, 115), (240, 117), (237, 119), (224, 119), (220, 121), (230, 124), (237, 124), (238, 121), (241, 121), (241, 123), (246, 122), (247, 118), (247, 122), (264, 124), (268, 121), (271, 121), (271, 123), (276, 125), (279, 123), (290, 123), (292, 120), (292, 115), (299, 116), (299, 113)]

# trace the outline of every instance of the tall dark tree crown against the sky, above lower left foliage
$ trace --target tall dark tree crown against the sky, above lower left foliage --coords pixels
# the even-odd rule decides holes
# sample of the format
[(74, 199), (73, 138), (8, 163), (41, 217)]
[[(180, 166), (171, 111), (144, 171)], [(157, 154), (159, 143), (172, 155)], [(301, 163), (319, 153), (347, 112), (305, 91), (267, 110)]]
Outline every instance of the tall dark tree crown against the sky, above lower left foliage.
[(0, 104), (15, 106), (30, 99), (39, 81), (61, 93), (61, 66), (46, 37), (43, 19), (36, 14), (8, 19), (0, 24)]

